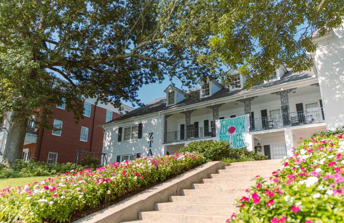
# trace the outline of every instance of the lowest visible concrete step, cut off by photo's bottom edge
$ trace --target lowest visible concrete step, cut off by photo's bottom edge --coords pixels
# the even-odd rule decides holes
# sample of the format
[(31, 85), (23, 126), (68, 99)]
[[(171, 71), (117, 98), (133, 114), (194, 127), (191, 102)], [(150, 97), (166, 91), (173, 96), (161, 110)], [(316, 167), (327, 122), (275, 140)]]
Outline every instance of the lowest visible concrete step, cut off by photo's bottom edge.
[[(230, 217), (230, 216), (229, 216)], [(149, 219), (154, 222), (193, 222), (193, 223), (224, 223), (229, 218), (228, 214), (202, 214), (189, 212), (165, 212), (165, 211), (145, 211), (139, 212), (139, 218), (142, 220)]]

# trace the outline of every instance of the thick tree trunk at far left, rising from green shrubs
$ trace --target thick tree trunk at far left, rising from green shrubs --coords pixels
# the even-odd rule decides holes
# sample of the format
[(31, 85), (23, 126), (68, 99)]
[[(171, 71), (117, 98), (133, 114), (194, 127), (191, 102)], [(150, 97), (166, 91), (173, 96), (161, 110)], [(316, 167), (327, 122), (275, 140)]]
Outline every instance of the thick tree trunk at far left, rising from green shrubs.
[(16, 159), (21, 159), (26, 131), (28, 131), (28, 119), (13, 117), (12, 126), (7, 137), (2, 163), (6, 166), (13, 163)]

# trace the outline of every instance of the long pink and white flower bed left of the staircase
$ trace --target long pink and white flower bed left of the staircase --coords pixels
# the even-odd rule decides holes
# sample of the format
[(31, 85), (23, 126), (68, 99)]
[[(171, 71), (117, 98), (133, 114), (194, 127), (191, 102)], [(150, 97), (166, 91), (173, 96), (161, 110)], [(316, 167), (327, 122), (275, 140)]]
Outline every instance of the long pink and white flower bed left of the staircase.
[(23, 222), (69, 221), (78, 210), (95, 208), (204, 161), (203, 156), (187, 152), (116, 162), (93, 171), (70, 171), (24, 187), (1, 190), (0, 210), (10, 206), (11, 214), (19, 214)]

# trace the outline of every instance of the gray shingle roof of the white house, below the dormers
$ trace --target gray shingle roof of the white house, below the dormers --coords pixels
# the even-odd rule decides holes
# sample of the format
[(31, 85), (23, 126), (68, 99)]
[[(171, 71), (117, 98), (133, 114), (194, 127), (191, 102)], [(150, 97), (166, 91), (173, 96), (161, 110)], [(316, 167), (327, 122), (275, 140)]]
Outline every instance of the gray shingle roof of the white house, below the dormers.
[(292, 81), (300, 81), (300, 80), (303, 80), (306, 78), (310, 78), (313, 75), (314, 75), (313, 71), (303, 71), (303, 72), (299, 72), (299, 73), (295, 73), (295, 72), (290, 71), (290, 72), (285, 73), (282, 76), (282, 78), (277, 80), (277, 81), (268, 82), (268, 83), (260, 83), (260, 84), (257, 84), (255, 86), (252, 86), (249, 90), (244, 88), (244, 89), (237, 89), (234, 91), (229, 91), (229, 88), (223, 88), (220, 91), (213, 94), (212, 96), (202, 98), (201, 100), (200, 100), (200, 89), (197, 88), (196, 90), (194, 90), (196, 93), (194, 93), (192, 95), (196, 99), (191, 99), (191, 98), (184, 99), (175, 105), (167, 107), (166, 106), (166, 97), (158, 98), (158, 99), (155, 99), (152, 102), (146, 104), (145, 106), (142, 106), (142, 107), (139, 107), (135, 110), (132, 110), (132, 111), (128, 112), (127, 114), (124, 114), (122, 116), (119, 116), (119, 117), (109, 121), (108, 123), (112, 123), (115, 121), (121, 121), (121, 120), (125, 120), (128, 118), (133, 118), (133, 117), (139, 117), (142, 115), (148, 115), (148, 114), (156, 113), (159, 111), (164, 111), (164, 110), (167, 110), (170, 108), (183, 107), (186, 105), (192, 105), (192, 104), (206, 102), (209, 100), (214, 100), (214, 99), (218, 99), (218, 98), (222, 98), (222, 97), (228, 97), (231, 95), (240, 94), (240, 93), (244, 93), (244, 92), (257, 91), (259, 89), (271, 87), (271, 86), (278, 85), (278, 84), (288, 83), (288, 82), (292, 82)]

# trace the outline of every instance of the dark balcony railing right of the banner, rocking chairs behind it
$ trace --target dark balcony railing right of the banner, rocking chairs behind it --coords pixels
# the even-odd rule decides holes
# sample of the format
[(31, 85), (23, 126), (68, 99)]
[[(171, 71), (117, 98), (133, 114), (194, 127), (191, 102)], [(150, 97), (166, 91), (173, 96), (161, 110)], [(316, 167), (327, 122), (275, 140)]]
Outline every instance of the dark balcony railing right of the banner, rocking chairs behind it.
[(297, 126), (324, 121), (323, 108), (312, 108), (303, 111), (289, 113), (288, 118), (283, 119), (282, 114), (254, 118), (251, 120), (251, 131), (273, 129), (283, 126)]

